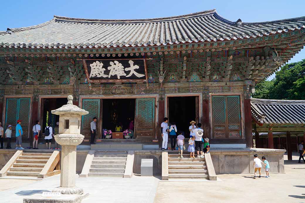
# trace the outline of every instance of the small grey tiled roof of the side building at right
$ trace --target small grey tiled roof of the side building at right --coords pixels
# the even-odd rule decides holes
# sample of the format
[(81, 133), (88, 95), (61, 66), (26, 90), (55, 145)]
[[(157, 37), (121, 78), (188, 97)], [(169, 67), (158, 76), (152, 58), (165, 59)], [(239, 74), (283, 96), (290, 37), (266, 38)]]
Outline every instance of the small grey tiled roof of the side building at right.
[(305, 100), (251, 98), (253, 119), (266, 124), (305, 124)]

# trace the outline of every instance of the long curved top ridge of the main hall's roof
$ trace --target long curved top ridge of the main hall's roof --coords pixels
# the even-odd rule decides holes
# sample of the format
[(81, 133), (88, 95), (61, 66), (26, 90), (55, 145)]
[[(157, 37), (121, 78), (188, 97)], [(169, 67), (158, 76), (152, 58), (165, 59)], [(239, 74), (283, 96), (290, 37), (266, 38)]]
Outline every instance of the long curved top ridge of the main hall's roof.
[(54, 18), (56, 21), (65, 21), (65, 22), (81, 22), (81, 23), (148, 23), (148, 22), (161, 22), (161, 21), (172, 21), (172, 20), (181, 20), (188, 19), (193, 17), (200, 17), (210, 15), (216, 12), (216, 9), (210, 9), (206, 11), (200, 11), (196, 13), (189, 13), (185, 15), (172, 16), (172, 17), (159, 17), (159, 18), (145, 18), (145, 19), (87, 19), (87, 18), (71, 18), (56, 16)]

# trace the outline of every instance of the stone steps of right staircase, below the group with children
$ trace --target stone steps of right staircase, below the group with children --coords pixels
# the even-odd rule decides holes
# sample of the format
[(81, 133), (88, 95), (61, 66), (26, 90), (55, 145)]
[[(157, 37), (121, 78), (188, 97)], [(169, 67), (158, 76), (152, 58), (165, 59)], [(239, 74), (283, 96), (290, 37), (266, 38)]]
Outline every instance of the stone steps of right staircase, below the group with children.
[(168, 179), (209, 179), (205, 158), (184, 155), (180, 158), (177, 153), (168, 153)]

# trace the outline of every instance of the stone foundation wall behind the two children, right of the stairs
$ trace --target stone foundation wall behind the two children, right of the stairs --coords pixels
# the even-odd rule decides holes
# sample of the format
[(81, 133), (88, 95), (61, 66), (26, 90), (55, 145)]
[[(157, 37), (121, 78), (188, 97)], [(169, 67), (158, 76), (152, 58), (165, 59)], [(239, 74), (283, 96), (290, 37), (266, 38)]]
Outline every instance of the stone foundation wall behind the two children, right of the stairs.
[[(222, 173), (253, 173), (253, 155), (261, 159), (265, 156), (270, 165), (271, 173), (285, 173), (284, 149), (214, 149), (210, 151), (215, 172)], [(264, 170), (262, 170), (264, 171)]]

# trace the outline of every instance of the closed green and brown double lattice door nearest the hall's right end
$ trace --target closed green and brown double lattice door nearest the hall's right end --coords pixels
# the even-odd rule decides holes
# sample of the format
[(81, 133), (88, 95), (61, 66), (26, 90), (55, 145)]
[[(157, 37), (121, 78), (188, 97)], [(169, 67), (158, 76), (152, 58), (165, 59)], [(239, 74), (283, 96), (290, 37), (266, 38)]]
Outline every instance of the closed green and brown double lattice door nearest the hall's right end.
[(212, 96), (213, 138), (241, 138), (240, 97)]

